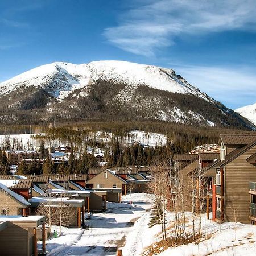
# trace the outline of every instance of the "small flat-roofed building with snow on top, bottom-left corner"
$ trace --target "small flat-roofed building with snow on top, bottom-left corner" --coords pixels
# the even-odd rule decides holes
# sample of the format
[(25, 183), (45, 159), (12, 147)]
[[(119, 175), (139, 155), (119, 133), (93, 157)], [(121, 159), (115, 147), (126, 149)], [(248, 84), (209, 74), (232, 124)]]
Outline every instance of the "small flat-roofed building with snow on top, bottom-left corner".
[[(45, 234), (45, 216), (0, 216), (1, 256), (37, 256), (37, 227), (42, 225)], [(45, 236), (42, 237), (42, 252), (46, 251)]]

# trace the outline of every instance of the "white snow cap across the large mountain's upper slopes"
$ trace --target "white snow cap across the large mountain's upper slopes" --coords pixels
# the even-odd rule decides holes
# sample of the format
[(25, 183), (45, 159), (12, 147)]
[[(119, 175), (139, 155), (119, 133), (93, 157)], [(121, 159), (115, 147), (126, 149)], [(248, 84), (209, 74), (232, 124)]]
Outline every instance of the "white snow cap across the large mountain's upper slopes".
[(56, 62), (42, 65), (2, 82), (0, 96), (16, 89), (40, 86), (61, 100), (73, 90), (85, 88), (97, 79), (123, 82), (130, 89), (146, 85), (174, 93), (194, 94), (209, 100), (206, 94), (188, 84), (182, 77), (176, 76), (172, 69), (127, 61), (93, 61), (89, 64)]

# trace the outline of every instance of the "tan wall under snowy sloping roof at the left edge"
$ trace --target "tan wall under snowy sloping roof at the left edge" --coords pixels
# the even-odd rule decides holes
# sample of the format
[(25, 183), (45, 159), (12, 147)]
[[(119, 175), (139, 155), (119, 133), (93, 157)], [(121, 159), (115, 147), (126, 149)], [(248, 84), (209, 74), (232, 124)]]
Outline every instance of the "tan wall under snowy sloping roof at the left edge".
[(8, 215), (19, 215), (21, 213), (21, 208), (25, 207), (16, 201), (13, 197), (11, 197), (8, 193), (0, 189), (0, 213), (2, 208), (8, 208)]

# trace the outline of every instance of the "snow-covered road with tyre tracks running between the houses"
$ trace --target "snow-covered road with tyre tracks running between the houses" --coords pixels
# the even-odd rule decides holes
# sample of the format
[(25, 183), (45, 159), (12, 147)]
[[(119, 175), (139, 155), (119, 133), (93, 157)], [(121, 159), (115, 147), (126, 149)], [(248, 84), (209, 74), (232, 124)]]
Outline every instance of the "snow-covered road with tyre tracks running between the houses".
[[(54, 256), (98, 256), (116, 255), (117, 247), (124, 246), (124, 256), (138, 255), (141, 251), (136, 250), (136, 245), (131, 251), (125, 249), (126, 242), (130, 247), (134, 237), (129, 234), (143, 232), (142, 225), (147, 226), (152, 200), (153, 196), (145, 193), (123, 196), (122, 203), (108, 203), (107, 212), (86, 215), (89, 229), (64, 228), (63, 236), (46, 242), (46, 249), (49, 255)], [(134, 207), (131, 207), (130, 201), (134, 201)]]

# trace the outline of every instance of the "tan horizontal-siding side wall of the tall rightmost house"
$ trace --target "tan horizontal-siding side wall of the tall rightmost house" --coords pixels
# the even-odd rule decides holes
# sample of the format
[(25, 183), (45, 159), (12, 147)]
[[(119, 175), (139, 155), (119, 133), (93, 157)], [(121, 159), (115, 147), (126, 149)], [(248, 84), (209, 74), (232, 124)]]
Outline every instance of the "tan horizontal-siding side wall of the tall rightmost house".
[(255, 154), (256, 146), (228, 163), (224, 172), (224, 209), (225, 221), (234, 221), (234, 208), (237, 221), (250, 224), (249, 181), (256, 181), (256, 167), (246, 161)]

